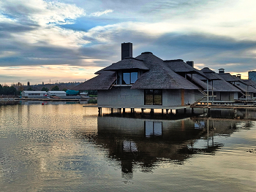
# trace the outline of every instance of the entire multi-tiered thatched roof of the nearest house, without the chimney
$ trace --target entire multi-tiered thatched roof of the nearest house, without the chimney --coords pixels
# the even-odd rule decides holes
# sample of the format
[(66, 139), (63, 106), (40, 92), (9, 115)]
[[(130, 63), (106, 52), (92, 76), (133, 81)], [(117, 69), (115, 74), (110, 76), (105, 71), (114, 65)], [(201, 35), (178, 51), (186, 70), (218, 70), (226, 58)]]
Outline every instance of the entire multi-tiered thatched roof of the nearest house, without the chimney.
[[(116, 81), (116, 72), (124, 69), (140, 69), (144, 71), (138, 77), (138, 80), (132, 85), (132, 89), (199, 89), (198, 84), (205, 88), (206, 83), (201, 82), (195, 85), (186, 78), (178, 74), (184, 72), (186, 74), (200, 74), (206, 78), (203, 72), (192, 68), (181, 60), (163, 61), (161, 58), (150, 52), (141, 53), (136, 58), (125, 58), (114, 63), (104, 69), (99, 70), (95, 74), (97, 77), (81, 83), (74, 90), (108, 90), (113, 82)], [(173, 70), (175, 72), (173, 72)], [(177, 72), (177, 73), (176, 73)], [(189, 77), (188, 77), (189, 79)]]

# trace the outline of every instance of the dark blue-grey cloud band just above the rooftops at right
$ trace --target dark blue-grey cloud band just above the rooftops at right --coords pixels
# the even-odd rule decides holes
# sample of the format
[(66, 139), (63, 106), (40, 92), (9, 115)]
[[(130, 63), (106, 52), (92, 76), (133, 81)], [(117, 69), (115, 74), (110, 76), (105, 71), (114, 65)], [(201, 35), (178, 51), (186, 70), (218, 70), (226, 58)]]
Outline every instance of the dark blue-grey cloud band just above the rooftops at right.
[[(227, 57), (222, 62), (225, 64), (227, 60), (228, 63), (238, 63), (237, 58), (241, 58), (244, 52), (254, 50), (256, 42), (203, 34), (165, 34), (155, 39), (154, 45), (150, 45), (150, 48), (161, 58), (182, 58), (191, 55), (194, 59), (207, 59), (211, 61), (210, 64), (217, 64)], [(240, 61), (251, 62), (252, 59), (243, 58)]]

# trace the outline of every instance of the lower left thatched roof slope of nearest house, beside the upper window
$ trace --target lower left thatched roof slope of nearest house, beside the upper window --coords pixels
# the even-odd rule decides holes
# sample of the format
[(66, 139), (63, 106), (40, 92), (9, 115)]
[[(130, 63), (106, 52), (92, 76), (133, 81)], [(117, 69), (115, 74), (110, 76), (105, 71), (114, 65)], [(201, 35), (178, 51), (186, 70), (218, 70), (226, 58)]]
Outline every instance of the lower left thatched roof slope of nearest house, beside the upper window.
[(73, 90), (88, 91), (88, 90), (108, 90), (116, 80), (116, 72), (102, 72), (98, 76), (75, 86)]

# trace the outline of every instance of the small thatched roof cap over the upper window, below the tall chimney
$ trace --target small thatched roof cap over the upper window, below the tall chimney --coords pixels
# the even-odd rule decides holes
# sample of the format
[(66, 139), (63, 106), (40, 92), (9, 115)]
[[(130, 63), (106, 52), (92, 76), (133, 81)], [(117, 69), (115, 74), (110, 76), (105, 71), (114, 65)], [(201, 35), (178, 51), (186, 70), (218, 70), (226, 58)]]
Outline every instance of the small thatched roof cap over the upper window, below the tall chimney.
[(143, 69), (148, 70), (148, 67), (145, 66), (142, 60), (137, 58), (124, 58), (121, 61), (118, 61), (117, 63), (114, 63), (105, 69), (103, 71), (113, 71), (116, 72), (120, 69)]

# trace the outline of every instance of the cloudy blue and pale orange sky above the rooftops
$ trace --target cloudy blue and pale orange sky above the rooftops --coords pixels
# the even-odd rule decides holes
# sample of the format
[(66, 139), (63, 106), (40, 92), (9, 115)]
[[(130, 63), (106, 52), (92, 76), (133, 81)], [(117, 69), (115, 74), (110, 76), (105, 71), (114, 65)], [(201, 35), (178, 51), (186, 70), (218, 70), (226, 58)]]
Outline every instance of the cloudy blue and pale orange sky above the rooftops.
[(255, 0), (0, 1), (0, 84), (83, 82), (133, 56), (194, 61), (231, 74), (256, 70)]

